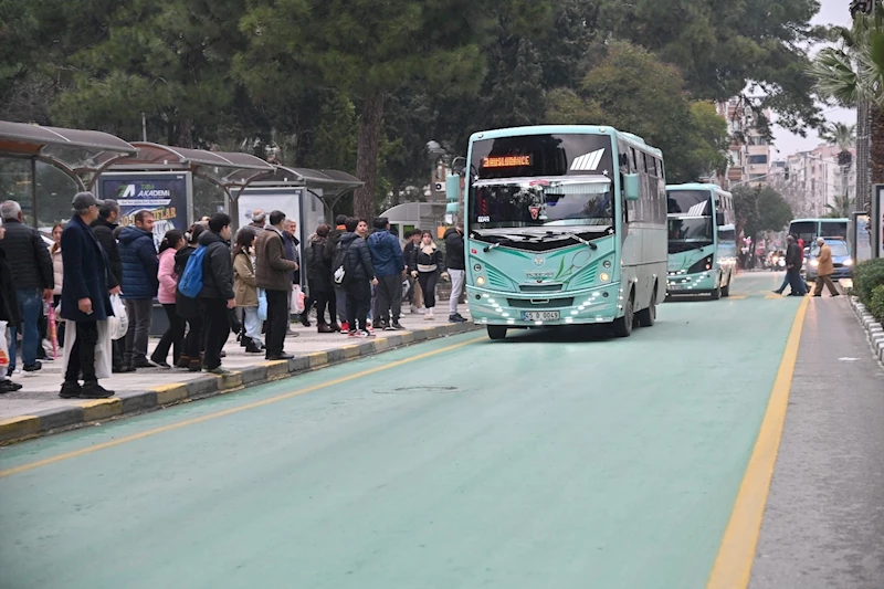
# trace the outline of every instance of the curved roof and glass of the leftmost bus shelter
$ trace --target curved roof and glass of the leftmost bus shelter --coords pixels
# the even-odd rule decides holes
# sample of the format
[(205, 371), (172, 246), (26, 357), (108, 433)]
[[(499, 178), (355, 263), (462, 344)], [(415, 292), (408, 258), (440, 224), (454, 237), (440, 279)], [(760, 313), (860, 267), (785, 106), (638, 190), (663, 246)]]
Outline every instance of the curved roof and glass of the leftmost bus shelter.
[(136, 152), (107, 133), (0, 120), (2, 199), (18, 201), (34, 227), (51, 227), (70, 217), (76, 191)]

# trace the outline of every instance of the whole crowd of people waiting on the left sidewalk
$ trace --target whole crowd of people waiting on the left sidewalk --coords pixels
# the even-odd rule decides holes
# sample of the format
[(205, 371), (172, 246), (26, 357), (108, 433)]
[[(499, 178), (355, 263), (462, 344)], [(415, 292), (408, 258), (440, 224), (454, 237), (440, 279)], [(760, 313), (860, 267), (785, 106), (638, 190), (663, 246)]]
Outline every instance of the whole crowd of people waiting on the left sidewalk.
[[(302, 261), (297, 225), (282, 211), (254, 210), (252, 222), (235, 235), (231, 218), (219, 212), (186, 232), (166, 232), (157, 249), (149, 211), (120, 225), (118, 203), (90, 192), (76, 194), (72, 208), (73, 218), (53, 228), (46, 248), (39, 231), (23, 223), (15, 201), (0, 204), (0, 320), (9, 327), (10, 360), (0, 393), (22, 388), (9, 378), (17, 372), (19, 333), (24, 371), (38, 371), (50, 359), (43, 347), (49, 305), (62, 319), (59, 340), (64, 340), (63, 329), (72, 330), (60, 397), (83, 399), (114, 395), (98, 383), (105, 377), (96, 367), (104, 338), (112, 372), (175, 366), (223, 375), (223, 347), (231, 333), (246, 354), (292, 358), (284, 341), (297, 335), (291, 329), (296, 306), (303, 307), (303, 325), (311, 326), (315, 308), (319, 333), (350, 338), (403, 329), (403, 303), (433, 319), (440, 277), (452, 282), (449, 320), (465, 320), (457, 313), (465, 276), (462, 227), (446, 231), (445, 260), (429, 231), (408, 232), (403, 249), (387, 219), (373, 219), (369, 229), (365, 219), (338, 215), (334, 229), (316, 228)], [(299, 305), (302, 269), (309, 296)], [(188, 290), (193, 296), (182, 293), (187, 273), (199, 276), (198, 292)], [(123, 299), (128, 330), (110, 341), (102, 322), (114, 315), (113, 295)], [(155, 299), (168, 327), (148, 354)]]

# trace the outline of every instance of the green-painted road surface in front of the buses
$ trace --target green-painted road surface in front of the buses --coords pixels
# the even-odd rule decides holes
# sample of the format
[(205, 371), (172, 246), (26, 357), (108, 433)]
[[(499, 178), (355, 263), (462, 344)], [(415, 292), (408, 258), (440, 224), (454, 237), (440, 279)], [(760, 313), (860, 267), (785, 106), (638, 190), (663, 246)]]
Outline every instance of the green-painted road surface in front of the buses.
[(629, 339), (466, 334), (3, 449), (0, 587), (705, 587), (779, 277)]

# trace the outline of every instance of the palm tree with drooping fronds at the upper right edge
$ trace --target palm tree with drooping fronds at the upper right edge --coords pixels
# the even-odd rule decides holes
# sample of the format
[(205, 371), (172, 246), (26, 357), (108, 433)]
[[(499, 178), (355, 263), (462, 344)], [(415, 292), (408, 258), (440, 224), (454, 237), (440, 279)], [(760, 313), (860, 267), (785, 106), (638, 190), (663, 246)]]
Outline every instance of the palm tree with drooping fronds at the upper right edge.
[[(821, 50), (811, 63), (810, 73), (822, 97), (846, 107), (871, 105), (872, 183), (884, 183), (884, 22), (881, 8), (874, 18), (860, 17), (852, 29), (836, 32), (839, 46)], [(857, 196), (861, 193), (865, 194), (865, 187), (857, 186)]]

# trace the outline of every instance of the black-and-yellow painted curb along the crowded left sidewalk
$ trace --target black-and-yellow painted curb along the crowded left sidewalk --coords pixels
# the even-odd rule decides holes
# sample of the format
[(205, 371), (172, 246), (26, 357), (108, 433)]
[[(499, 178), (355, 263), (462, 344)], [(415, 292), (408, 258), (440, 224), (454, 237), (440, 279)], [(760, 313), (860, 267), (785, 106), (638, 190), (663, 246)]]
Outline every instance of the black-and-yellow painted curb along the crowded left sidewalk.
[(188, 382), (168, 383), (144, 391), (122, 392), (110, 399), (82, 401), (74, 406), (35, 411), (28, 416), (0, 420), (0, 445), (228, 395), (246, 387), (475, 329), (478, 329), (478, 326), (473, 322), (424, 327), (413, 332), (378, 337), (356, 345), (348, 344), (325, 351), (316, 351), (291, 360), (262, 361), (256, 366), (234, 370), (230, 375), (207, 375)]

